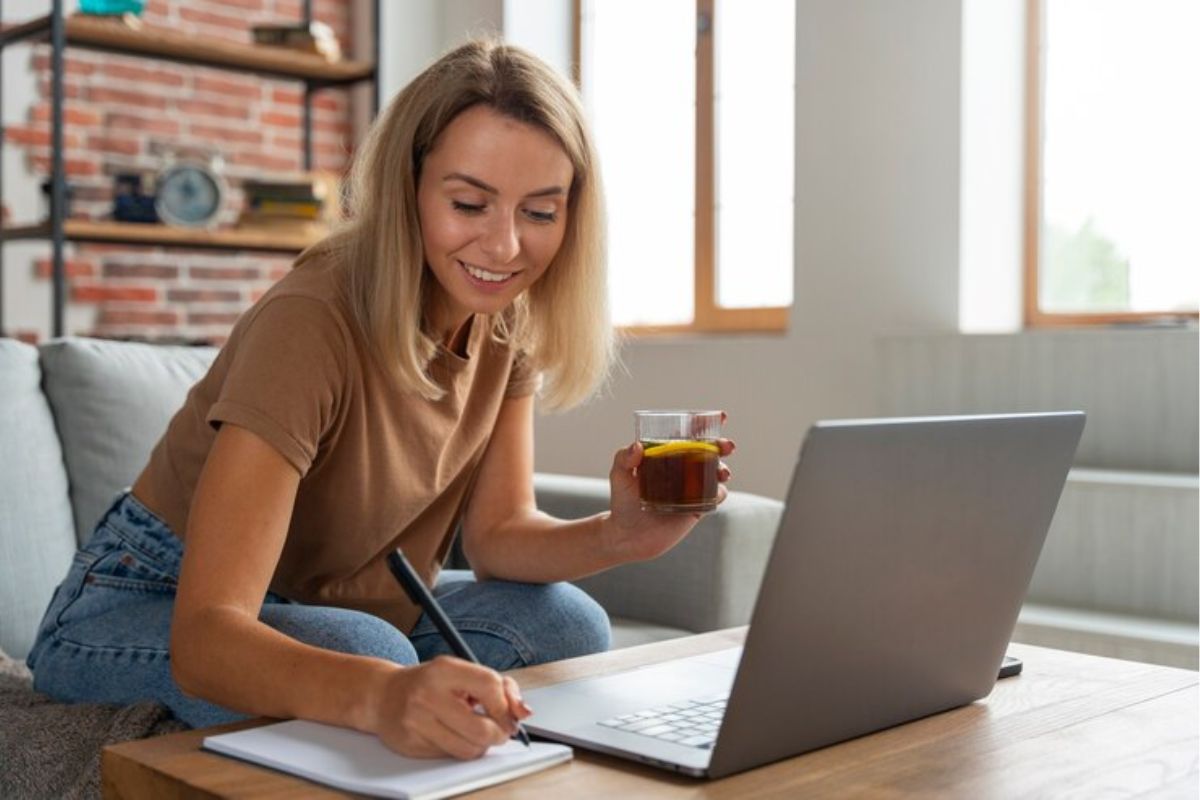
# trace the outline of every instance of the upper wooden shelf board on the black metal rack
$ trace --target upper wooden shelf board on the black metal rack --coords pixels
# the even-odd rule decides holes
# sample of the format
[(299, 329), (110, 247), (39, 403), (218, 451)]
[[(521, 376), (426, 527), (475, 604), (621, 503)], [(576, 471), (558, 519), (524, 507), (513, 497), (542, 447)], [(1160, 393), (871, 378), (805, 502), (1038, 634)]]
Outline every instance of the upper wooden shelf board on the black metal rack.
[[(240, 70), (314, 84), (337, 85), (370, 80), (373, 64), (329, 62), (319, 55), (284, 47), (229, 42), (211, 36), (192, 36), (167, 28), (127, 25), (120, 17), (71, 14), (66, 22), (67, 44), (125, 55), (146, 55), (167, 61), (197, 64), (223, 70)], [(46, 41), (50, 35), (49, 16), (38, 17), (4, 30), (2, 43), (30, 38)]]

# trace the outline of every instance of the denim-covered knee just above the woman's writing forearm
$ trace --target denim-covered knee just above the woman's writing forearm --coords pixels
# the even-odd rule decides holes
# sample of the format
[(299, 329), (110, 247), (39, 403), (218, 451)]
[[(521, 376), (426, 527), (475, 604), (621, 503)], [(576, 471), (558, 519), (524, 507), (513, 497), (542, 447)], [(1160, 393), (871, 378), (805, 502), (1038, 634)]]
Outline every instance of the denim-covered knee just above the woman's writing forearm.
[(329, 606), (274, 604), (260, 619), (292, 638), (326, 650), (415, 664), (412, 643), (391, 622), (366, 612)]

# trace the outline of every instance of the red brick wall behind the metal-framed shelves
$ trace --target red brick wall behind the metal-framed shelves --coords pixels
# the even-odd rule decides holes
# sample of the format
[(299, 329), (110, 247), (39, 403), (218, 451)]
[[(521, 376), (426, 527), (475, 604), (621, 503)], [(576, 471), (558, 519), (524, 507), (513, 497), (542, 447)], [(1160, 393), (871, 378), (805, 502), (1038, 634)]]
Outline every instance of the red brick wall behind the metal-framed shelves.
[[(350, 53), (353, 0), (314, 0), (313, 17), (329, 24)], [(250, 42), (256, 23), (300, 19), (295, 0), (149, 0), (148, 25)], [(26, 122), (10, 125), (5, 146), (24, 151), (31, 170), (49, 174), (50, 103), (47, 46), (30, 48), (37, 101)], [(246, 178), (294, 174), (304, 166), (299, 82), (192, 67), (154, 59), (67, 48), (65, 54), (65, 167), (71, 217), (110, 217), (113, 175), (157, 170), (172, 157), (209, 157), (230, 190), (221, 213), (233, 224)], [(317, 169), (343, 172), (352, 146), (349, 92), (314, 95)], [(289, 269), (290, 255), (176, 248), (67, 245), (68, 302), (94, 308), (88, 330), (71, 335), (220, 343), (238, 315)], [(8, 264), (7, 269), (20, 269)], [(32, 264), (49, 279), (49, 259)], [(49, 314), (49, 308), (47, 308)], [(79, 319), (73, 313), (68, 319)]]

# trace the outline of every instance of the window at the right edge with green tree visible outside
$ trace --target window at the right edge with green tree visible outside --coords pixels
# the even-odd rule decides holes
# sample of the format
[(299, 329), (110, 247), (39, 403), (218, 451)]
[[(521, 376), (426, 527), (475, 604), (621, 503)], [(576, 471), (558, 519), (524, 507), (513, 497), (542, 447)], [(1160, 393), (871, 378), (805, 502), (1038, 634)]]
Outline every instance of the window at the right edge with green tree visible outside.
[(1195, 318), (1200, 4), (1030, 0), (1030, 325)]

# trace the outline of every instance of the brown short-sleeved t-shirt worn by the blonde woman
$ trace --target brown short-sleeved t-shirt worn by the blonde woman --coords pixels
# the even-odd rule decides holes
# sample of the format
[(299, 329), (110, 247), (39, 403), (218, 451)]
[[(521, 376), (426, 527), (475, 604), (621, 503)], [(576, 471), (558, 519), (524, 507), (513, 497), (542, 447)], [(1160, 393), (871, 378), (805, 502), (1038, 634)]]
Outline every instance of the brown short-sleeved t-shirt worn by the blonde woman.
[(138, 499), (184, 536), (217, 428), (247, 428), (301, 475), (271, 591), (407, 632), (420, 612), (384, 558), (402, 547), (434, 583), (500, 404), (535, 391), (538, 375), (479, 317), (466, 357), (439, 348), (430, 365), (442, 399), (401, 393), (352, 324), (342, 281), (340, 266), (310, 260), (241, 317), (150, 455)]

